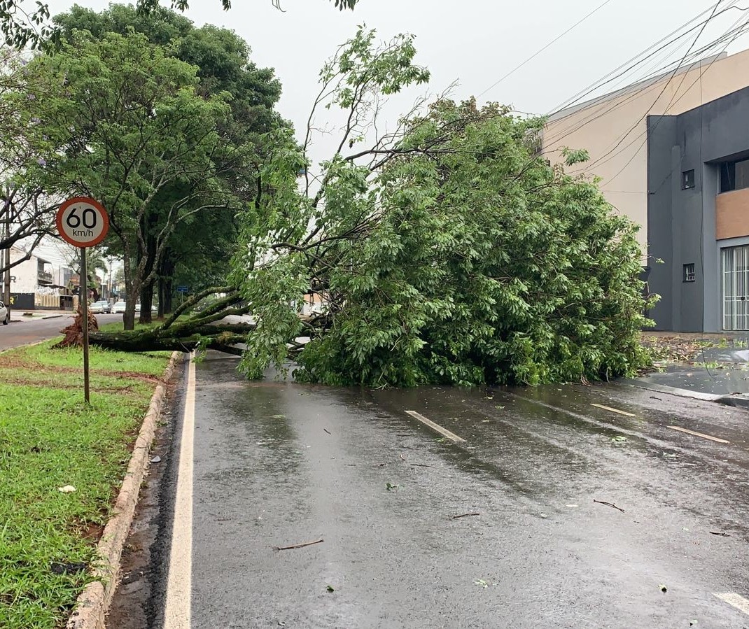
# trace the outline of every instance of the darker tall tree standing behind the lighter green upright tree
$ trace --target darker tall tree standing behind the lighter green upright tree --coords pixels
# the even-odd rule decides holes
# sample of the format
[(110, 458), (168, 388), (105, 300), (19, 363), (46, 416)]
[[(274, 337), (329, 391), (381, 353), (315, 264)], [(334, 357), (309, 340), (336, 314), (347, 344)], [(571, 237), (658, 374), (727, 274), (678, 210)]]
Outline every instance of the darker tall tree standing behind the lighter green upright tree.
[[(231, 117), (217, 127), (219, 136), (230, 145), (242, 147), (246, 156), (257, 155), (255, 159), (246, 159), (240, 163), (225, 164), (225, 177), (231, 177), (229, 186), (237, 197), (252, 198), (255, 196), (255, 180), (257, 167), (255, 162), (261, 159), (263, 151), (261, 136), (273, 127), (282, 124), (279, 116), (273, 111), (276, 101), (281, 94), (279, 82), (273, 77), (273, 70), (258, 68), (249, 58), (249, 46), (233, 31), (204, 25), (195, 28), (192, 22), (173, 11), (160, 10), (158, 13), (144, 16), (132, 6), (113, 5), (108, 10), (96, 13), (82, 7), (74, 6), (69, 13), (55, 16), (55, 23), (61, 28), (61, 38), (71, 40), (76, 29), (89, 31), (94, 38), (101, 38), (107, 33), (127, 35), (136, 31), (148, 37), (156, 45), (163, 46), (165, 52), (181, 61), (198, 67), (196, 87), (198, 94), (204, 97), (220, 95), (224, 92), (231, 95), (228, 104)], [(230, 154), (229, 159), (237, 155), (237, 151)], [(180, 186), (169, 186), (152, 201), (152, 207), (166, 206), (171, 198), (180, 194)], [(195, 201), (197, 202), (197, 201)], [(198, 253), (204, 252), (207, 229), (213, 225), (224, 225), (229, 228), (225, 232), (211, 232), (213, 241), (222, 246), (221, 252), (210, 252), (211, 258), (218, 255), (226, 258), (234, 250), (235, 243), (231, 237), (236, 230), (231, 228), (234, 220), (234, 208), (225, 210), (216, 208), (210, 216), (200, 216), (202, 228), (195, 229), (194, 223), (183, 224), (179, 230), (179, 237), (172, 237), (157, 259), (156, 237), (161, 227), (161, 219), (167, 215), (166, 207), (160, 213), (151, 212), (150, 221), (145, 231), (145, 248), (139, 255), (145, 255), (146, 274), (153, 279), (144, 282), (141, 287), (140, 300), (142, 308), (140, 320), (142, 323), (151, 321), (151, 300), (154, 288), (158, 287), (160, 295), (160, 315), (163, 316), (165, 307), (169, 312), (172, 295), (166, 290), (169, 278), (174, 273), (181, 255), (187, 252), (190, 262), (200, 269), (207, 260), (198, 259)], [(193, 217), (195, 219), (195, 217)], [(194, 285), (195, 282), (189, 282)]]

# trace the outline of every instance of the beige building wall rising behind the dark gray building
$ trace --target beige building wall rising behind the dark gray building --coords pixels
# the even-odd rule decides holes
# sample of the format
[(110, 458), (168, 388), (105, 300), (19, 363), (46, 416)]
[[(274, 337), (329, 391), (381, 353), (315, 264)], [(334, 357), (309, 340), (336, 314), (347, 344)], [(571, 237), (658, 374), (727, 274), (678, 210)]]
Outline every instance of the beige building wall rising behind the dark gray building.
[(673, 78), (669, 73), (557, 112), (544, 130), (543, 154), (556, 163), (564, 161), (565, 147), (586, 149), (589, 162), (568, 172), (601, 177), (607, 201), (641, 225), (639, 240), (646, 252), (647, 117), (678, 115), (748, 85), (749, 50), (712, 63), (703, 60)]

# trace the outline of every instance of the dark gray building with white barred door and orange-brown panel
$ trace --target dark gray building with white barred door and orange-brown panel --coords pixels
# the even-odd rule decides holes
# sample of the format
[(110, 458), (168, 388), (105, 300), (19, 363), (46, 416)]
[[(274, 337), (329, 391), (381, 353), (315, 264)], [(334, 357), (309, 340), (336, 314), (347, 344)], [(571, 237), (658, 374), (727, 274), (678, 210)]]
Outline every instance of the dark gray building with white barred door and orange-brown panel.
[(749, 88), (647, 121), (656, 329), (749, 329)]

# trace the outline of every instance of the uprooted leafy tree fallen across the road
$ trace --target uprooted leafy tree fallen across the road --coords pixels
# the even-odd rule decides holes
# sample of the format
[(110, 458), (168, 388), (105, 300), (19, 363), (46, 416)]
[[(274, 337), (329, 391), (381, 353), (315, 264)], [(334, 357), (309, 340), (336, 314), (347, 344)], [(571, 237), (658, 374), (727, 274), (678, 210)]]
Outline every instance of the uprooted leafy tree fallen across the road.
[[(272, 135), (232, 282), (206, 291), (224, 300), (179, 325), (94, 341), (231, 351), (242, 330), (209, 324), (249, 309), (249, 377), (283, 371), (290, 356), (301, 379), (369, 386), (536, 384), (639, 368), (648, 322), (635, 225), (595, 182), (536, 154), (541, 119), (505, 107), (440, 98), (370, 139), (383, 97), (428, 78), (410, 37), (384, 46), (374, 37), (361, 29), (321, 73), (315, 106), (340, 107), (347, 122), (318, 177), (308, 142)], [(243, 306), (222, 310), (239, 297)], [(306, 299), (322, 312), (300, 316)]]

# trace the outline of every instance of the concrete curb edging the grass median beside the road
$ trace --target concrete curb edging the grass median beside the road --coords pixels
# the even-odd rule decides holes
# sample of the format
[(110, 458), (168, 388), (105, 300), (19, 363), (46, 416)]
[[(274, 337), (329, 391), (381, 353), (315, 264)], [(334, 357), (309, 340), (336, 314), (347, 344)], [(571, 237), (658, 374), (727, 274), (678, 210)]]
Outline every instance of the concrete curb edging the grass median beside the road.
[[(172, 353), (169, 365), (164, 372), (164, 382), (167, 382), (175, 370), (175, 365), (181, 358), (181, 353)], [(115, 594), (120, 572), (120, 558), (130, 525), (133, 523), (138, 494), (141, 483), (148, 469), (148, 454), (154, 441), (157, 421), (166, 398), (166, 386), (160, 383), (151, 396), (151, 404), (145, 414), (141, 429), (133, 447), (133, 455), (127, 466), (125, 478), (122, 481), (120, 493), (115, 502), (112, 517), (106, 523), (97, 551), (101, 557), (101, 564), (94, 571), (97, 578), (85, 587), (76, 601), (73, 615), (67, 622), (66, 629), (104, 629), (104, 619)]]

